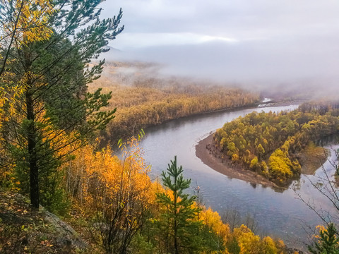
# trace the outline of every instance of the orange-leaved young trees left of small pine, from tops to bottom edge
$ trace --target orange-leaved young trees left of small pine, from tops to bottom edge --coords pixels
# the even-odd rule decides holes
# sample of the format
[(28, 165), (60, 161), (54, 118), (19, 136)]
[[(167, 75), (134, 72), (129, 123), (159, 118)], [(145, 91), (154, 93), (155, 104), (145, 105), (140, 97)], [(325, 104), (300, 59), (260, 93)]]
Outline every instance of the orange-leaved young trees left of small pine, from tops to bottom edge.
[(155, 199), (149, 167), (137, 144), (135, 138), (122, 144), (121, 159), (109, 147), (95, 152), (87, 145), (63, 165), (67, 190), (108, 253), (126, 251)]

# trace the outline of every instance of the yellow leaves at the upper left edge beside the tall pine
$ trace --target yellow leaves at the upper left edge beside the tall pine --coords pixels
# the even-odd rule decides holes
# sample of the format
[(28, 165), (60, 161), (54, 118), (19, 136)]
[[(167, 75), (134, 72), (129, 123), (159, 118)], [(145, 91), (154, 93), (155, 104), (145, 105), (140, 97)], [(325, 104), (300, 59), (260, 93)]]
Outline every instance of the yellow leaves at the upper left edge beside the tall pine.
[[(53, 31), (49, 28), (49, 17), (54, 13), (52, 1), (50, 0), (0, 0), (0, 5), (4, 8), (3, 13), (8, 16), (3, 17), (1, 23), (0, 48), (0, 128), (4, 121), (8, 121), (16, 115), (14, 105), (18, 102), (19, 95), (26, 89), (26, 80), (16, 80), (13, 84), (12, 78), (15, 75), (6, 68), (6, 63), (13, 63), (15, 59), (5, 58), (6, 52), (11, 47), (19, 49), (31, 42), (48, 40)], [(7, 8), (7, 9), (6, 9)], [(1, 63), (2, 65), (2, 63)], [(29, 75), (30, 73), (26, 73)], [(0, 138), (0, 141), (3, 140)], [(0, 156), (4, 157), (4, 149), (0, 147)]]

